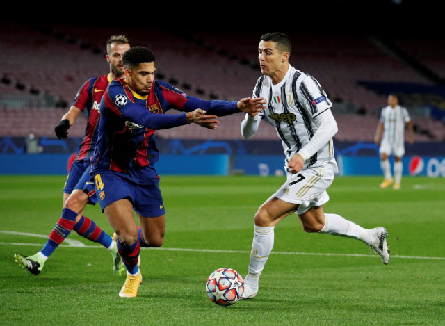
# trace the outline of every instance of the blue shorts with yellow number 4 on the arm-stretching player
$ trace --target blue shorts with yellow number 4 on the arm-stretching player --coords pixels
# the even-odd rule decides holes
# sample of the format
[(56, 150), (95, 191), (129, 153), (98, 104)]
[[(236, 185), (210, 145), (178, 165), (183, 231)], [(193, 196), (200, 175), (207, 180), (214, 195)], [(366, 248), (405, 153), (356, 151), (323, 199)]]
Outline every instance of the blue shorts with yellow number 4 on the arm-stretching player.
[(127, 198), (133, 204), (133, 210), (146, 218), (165, 214), (159, 180), (152, 165), (128, 170), (127, 174), (99, 169), (92, 177), (102, 211), (109, 204)]

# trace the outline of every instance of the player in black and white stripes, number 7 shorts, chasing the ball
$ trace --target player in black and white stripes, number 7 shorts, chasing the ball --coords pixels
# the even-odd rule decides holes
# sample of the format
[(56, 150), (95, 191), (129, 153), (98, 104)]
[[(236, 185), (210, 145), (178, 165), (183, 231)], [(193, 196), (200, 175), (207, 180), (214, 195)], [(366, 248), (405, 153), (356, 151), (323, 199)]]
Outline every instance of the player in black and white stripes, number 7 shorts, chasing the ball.
[(364, 229), (340, 215), (325, 213), (326, 189), (338, 172), (332, 137), (337, 133), (331, 102), (313, 76), (289, 63), (291, 42), (282, 33), (261, 36), (258, 47), (261, 73), (253, 97), (264, 97), (267, 108), (248, 113), (241, 122), (243, 137), (254, 136), (261, 120), (277, 130), (282, 141), (286, 182), (262, 204), (254, 215), (254, 237), (243, 298), (257, 295), (259, 277), (273, 249), (274, 228), (296, 213), (302, 228), (361, 240), (389, 263), (387, 229)]

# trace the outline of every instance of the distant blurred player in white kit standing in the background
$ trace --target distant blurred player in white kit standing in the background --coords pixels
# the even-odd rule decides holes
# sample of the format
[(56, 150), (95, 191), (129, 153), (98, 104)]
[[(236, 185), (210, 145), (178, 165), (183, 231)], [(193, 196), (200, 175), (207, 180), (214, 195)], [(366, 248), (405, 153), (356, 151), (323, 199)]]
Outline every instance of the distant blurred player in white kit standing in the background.
[[(403, 164), (402, 157), (405, 155), (405, 125), (408, 127), (408, 142), (414, 142), (414, 131), (408, 111), (398, 104), (397, 95), (388, 96), (388, 105), (380, 112), (380, 122), (375, 131), (375, 143), (380, 140), (380, 167), (383, 172), (383, 182), (380, 188), (387, 188), (391, 184), (393, 189), (401, 188)], [(382, 136), (383, 135), (383, 136)], [(394, 179), (391, 174), (391, 163), (388, 157), (394, 154)]]

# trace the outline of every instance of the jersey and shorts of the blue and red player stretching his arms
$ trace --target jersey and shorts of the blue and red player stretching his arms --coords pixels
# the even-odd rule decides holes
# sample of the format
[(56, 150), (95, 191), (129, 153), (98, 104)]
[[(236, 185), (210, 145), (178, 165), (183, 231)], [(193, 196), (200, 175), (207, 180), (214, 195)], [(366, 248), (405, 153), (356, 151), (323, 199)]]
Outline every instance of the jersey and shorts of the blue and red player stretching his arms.
[[(165, 115), (171, 108), (184, 113)], [(186, 112), (197, 108), (218, 116), (241, 112), (236, 101), (204, 101), (163, 81), (154, 81), (149, 95), (145, 96), (133, 92), (125, 79), (111, 81), (102, 97), (99, 139), (91, 160), (102, 211), (108, 204), (129, 197), (140, 215), (165, 213), (158, 187), (159, 175), (154, 170), (154, 163), (159, 161), (154, 132), (188, 124)], [(116, 176), (138, 188), (132, 191), (117, 184)], [(147, 188), (149, 184), (152, 187)], [(144, 196), (152, 197), (152, 204)]]

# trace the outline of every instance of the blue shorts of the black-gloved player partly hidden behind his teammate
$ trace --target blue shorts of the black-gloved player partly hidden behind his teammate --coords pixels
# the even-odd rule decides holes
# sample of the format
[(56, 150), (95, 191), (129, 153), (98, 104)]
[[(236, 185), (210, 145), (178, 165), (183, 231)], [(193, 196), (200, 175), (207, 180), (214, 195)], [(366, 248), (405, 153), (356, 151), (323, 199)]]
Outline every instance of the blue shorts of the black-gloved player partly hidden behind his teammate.
[(70, 173), (68, 173), (67, 181), (63, 187), (64, 193), (72, 193), (74, 189), (82, 190), (89, 197), (88, 204), (95, 205), (97, 197), (95, 196), (95, 185), (91, 179), (91, 163), (90, 158), (74, 161), (71, 165)]

